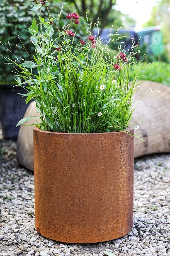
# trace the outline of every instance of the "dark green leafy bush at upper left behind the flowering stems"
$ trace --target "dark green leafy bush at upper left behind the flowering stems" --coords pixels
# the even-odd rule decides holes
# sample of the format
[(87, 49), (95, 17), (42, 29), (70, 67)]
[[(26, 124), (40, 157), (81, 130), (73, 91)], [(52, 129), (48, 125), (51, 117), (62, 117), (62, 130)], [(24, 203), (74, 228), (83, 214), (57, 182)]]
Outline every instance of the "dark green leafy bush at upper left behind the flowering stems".
[[(6, 46), (9, 46), (8, 44), (10, 44), (11, 51), (17, 58), (22, 58), (27, 61), (29, 60), (29, 55), (32, 56), (35, 54), (35, 48), (30, 42), (30, 32), (28, 30), (32, 24), (33, 16), (36, 16), (35, 12), (30, 11), (34, 3), (34, 0), (1, 0), (0, 2), (0, 41)], [(52, 2), (50, 5), (50, 12), (52, 12), (53, 16), (57, 16), (58, 13), (60, 13), (62, 5), (64, 6), (64, 11), (60, 18), (61, 26), (67, 25), (65, 21), (66, 14), (70, 11), (74, 11), (73, 5), (68, 5), (68, 3), (66, 4), (65, 2), (60, 1), (57, 3)], [(69, 11), (67, 12), (67, 10)], [(44, 16), (47, 17), (48, 14), (44, 13)], [(74, 26), (74, 30), (77, 32), (79, 38), (82, 37), (87, 29), (85, 24), (85, 20), (82, 19), (77, 31), (76, 26)], [(57, 23), (54, 24), (54, 31), (58, 31), (57, 26)], [(17, 35), (19, 35), (19, 37)], [(21, 42), (24, 42), (24, 46), (28, 53), (23, 49), (20, 40)], [(16, 57), (14, 55), (11, 56), (10, 52), (7, 53), (2, 45), (0, 45), (0, 54), (3, 56), (5, 55), (13, 61), (16, 60)], [(15, 74), (11, 71), (14, 71), (11, 66), (4, 65), (3, 61), (0, 61), (0, 85), (13, 85), (15, 83), (13, 78)]]

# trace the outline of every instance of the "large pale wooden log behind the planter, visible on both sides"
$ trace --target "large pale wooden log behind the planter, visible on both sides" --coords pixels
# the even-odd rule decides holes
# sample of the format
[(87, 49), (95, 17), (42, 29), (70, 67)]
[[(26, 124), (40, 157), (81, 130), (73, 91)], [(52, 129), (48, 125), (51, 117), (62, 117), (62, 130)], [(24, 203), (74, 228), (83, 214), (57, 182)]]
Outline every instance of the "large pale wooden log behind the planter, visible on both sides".
[[(140, 118), (140, 122), (144, 120), (144, 124), (137, 124), (143, 133), (135, 130), (136, 136), (139, 135), (144, 141), (134, 138), (134, 157), (170, 152), (170, 87), (156, 82), (142, 81), (139, 89), (134, 93), (132, 108), (135, 108), (132, 123), (138, 122)], [(38, 113), (35, 113), (35, 102), (31, 102), (24, 116), (38, 116)], [(36, 122), (36, 118), (30, 120), (30, 123), (32, 122)], [(20, 127), (17, 157), (21, 165), (34, 170), (33, 126)]]

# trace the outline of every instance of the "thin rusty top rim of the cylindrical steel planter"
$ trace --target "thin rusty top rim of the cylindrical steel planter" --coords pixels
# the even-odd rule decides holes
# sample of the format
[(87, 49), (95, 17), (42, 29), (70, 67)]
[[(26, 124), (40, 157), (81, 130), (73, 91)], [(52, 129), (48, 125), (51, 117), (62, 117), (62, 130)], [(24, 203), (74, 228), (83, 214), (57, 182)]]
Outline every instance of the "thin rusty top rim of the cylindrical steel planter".
[[(70, 135), (80, 135), (80, 134), (84, 134), (84, 135), (92, 135), (92, 134), (98, 134), (98, 135), (101, 135), (101, 134), (111, 134), (111, 133), (122, 133), (122, 132), (130, 132), (130, 131), (133, 131), (134, 128), (133, 127), (129, 127), (127, 128), (126, 130), (124, 131), (109, 131), (109, 132), (93, 132), (93, 133), (69, 133), (69, 132), (53, 132), (53, 131), (44, 131), (44, 130), (41, 130), (39, 129), (38, 127), (34, 127), (33, 128), (35, 131), (38, 131), (38, 132), (43, 132), (43, 133), (50, 133), (50, 134), (54, 134), (54, 133), (57, 133), (57, 134), (70, 134)], [(132, 134), (130, 134), (132, 135)]]

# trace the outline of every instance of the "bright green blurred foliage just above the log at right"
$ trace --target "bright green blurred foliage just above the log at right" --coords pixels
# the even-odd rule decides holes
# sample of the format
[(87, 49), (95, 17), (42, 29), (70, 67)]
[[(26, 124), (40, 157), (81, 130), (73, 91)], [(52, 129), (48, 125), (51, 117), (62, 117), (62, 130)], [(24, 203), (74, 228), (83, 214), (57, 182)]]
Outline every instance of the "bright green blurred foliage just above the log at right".
[[(137, 64), (135, 70), (138, 69), (141, 69), (138, 76), (139, 80), (149, 80), (170, 86), (170, 64), (162, 61), (157, 61), (151, 64), (143, 62), (142, 65), (140, 65), (140, 63)], [(132, 80), (134, 73), (136, 73), (136, 71), (131, 72)]]

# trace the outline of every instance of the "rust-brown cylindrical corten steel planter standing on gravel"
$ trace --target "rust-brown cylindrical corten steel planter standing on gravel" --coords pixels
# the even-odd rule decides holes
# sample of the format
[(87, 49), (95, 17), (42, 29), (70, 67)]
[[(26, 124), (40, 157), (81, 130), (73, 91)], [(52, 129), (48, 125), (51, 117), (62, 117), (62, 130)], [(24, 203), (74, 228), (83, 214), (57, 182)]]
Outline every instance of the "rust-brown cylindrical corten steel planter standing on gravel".
[(34, 128), (36, 230), (67, 243), (124, 236), (133, 228), (133, 170), (134, 139), (125, 132)]

